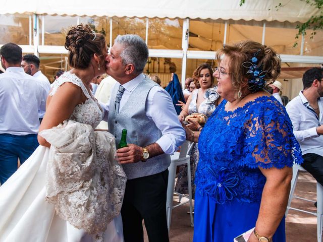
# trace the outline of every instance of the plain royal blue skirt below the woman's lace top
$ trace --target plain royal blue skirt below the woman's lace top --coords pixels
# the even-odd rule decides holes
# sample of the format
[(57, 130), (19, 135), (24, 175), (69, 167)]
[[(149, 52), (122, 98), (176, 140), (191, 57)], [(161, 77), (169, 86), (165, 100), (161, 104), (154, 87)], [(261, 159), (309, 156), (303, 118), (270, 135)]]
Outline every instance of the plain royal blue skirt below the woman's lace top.
[[(253, 228), (259, 212), (259, 203), (217, 204), (208, 196), (195, 194), (194, 242), (233, 242), (238, 235)], [(285, 242), (285, 216), (273, 237)]]

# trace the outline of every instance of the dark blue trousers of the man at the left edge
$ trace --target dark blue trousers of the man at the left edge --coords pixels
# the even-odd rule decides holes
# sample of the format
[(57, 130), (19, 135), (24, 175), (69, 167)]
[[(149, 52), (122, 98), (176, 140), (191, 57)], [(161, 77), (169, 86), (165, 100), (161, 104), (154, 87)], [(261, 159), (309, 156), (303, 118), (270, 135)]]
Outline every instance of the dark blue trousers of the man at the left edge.
[(5, 181), (39, 146), (37, 135), (0, 134), (0, 183)]

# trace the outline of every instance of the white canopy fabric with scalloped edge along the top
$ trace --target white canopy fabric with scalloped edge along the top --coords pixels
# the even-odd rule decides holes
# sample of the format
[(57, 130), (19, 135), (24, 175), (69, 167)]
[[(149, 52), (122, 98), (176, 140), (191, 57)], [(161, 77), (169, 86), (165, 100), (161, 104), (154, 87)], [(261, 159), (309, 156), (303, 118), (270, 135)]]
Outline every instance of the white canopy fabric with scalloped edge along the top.
[[(0, 14), (34, 13), (70, 16), (190, 18), (255, 21), (306, 22), (320, 11), (301, 0), (3, 0)], [(277, 7), (282, 4), (283, 7)]]

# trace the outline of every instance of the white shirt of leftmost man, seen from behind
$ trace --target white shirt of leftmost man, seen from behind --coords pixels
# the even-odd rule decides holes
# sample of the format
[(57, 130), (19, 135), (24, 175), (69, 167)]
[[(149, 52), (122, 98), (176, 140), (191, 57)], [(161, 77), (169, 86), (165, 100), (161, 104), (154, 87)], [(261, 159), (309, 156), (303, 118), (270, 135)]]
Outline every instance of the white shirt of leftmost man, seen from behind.
[(38, 108), (45, 94), (37, 79), (20, 67), (9, 67), (0, 74), (0, 134), (37, 134)]

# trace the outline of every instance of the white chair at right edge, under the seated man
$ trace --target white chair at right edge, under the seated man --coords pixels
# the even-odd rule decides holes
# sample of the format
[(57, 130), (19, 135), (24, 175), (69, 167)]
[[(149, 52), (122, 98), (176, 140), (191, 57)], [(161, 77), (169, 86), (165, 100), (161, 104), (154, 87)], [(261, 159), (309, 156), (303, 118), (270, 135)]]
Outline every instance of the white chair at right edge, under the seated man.
[(322, 224), (323, 224), (322, 223), (322, 218), (323, 218), (323, 187), (322, 187), (322, 185), (320, 185), (319, 183), (316, 182), (316, 200), (317, 200), (316, 213), (309, 212), (309, 211), (302, 210), (302, 209), (298, 209), (298, 208), (292, 208), (291, 207), (291, 202), (292, 202), (293, 198), (305, 200), (305, 201), (308, 201), (308, 202), (315, 202), (313, 200), (309, 200), (309, 199), (294, 196), (294, 191), (295, 191), (295, 187), (296, 187), (299, 172), (307, 172), (307, 171), (302, 166), (300, 166), (298, 164), (294, 164), (293, 165), (293, 178), (292, 178), (291, 192), (290, 192), (290, 195), (289, 195), (288, 205), (287, 205), (285, 216), (287, 216), (290, 209), (293, 209), (293, 210), (296, 210), (296, 211), (299, 211), (299, 212), (312, 214), (312, 215), (316, 216), (317, 217), (317, 228), (316, 228), (316, 230), (317, 230), (317, 242), (321, 242), (321, 240), (322, 240)]

